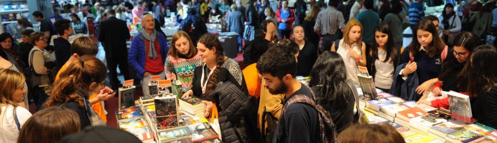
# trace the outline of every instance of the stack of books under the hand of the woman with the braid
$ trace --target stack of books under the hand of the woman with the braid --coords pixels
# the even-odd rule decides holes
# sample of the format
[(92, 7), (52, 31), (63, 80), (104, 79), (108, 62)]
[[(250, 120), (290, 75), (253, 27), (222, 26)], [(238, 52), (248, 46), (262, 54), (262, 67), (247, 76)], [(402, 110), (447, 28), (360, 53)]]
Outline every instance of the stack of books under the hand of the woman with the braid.
[(190, 96), (179, 99), (179, 108), (181, 108), (181, 111), (183, 111), (183, 113), (188, 116), (203, 116), (205, 104), (202, 103), (202, 99), (195, 96)]

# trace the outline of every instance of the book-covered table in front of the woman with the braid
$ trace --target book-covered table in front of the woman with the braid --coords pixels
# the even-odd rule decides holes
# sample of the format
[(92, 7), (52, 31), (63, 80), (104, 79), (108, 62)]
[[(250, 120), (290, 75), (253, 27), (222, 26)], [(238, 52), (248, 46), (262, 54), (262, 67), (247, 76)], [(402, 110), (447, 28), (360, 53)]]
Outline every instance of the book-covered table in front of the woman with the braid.
[[(162, 109), (156, 112), (157, 101), (147, 95), (135, 101), (136, 106), (116, 110), (119, 128), (134, 134), (143, 143), (222, 143), (207, 119), (198, 116), (202, 114), (178, 114), (178, 111), (185, 112), (182, 108), (186, 106), (181, 99), (177, 100), (177, 96), (170, 97), (172, 98), (168, 99), (174, 99), (173, 102), (178, 106), (173, 104), (163, 106), (159, 103), (158, 106)], [(175, 111), (171, 110), (174, 108)], [(203, 111), (203, 106), (199, 108)], [(157, 113), (165, 111), (171, 116), (164, 119), (157, 117)]]

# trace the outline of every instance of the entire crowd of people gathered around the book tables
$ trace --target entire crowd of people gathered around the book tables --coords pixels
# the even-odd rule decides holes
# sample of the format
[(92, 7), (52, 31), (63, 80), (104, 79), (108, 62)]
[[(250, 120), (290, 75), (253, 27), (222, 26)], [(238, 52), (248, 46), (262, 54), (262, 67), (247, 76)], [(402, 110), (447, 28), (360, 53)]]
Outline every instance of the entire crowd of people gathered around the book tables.
[[(417, 104), (449, 108), (448, 98), (426, 101), (429, 92), (468, 95), (473, 117), (497, 128), (495, 5), (467, 0), (456, 12), (447, 2), (436, 17), (424, 14), (421, 0), (297, 0), (292, 6), (287, 0), (245, 6), (241, 0), (64, 1), (54, 3), (50, 17), (32, 13), (40, 22), (36, 31), (26, 17), (12, 14), (17, 23), (0, 34), (0, 141), (140, 142), (101, 127), (107, 123), (103, 101), (121, 86), (118, 74), (132, 78), (128, 65), (143, 95), (150, 94), (150, 77), (159, 75), (180, 81), (183, 98), (202, 98), (205, 117), (220, 115), (226, 143), (403, 143), (389, 125), (359, 124), (358, 66), (367, 67), (376, 88)], [(71, 19), (61, 12), (71, 12)], [(69, 42), (92, 33), (91, 15), (97, 42), (85, 36)], [(161, 27), (170, 16), (179, 31), (166, 35)], [(131, 40), (130, 22), (142, 27)], [(238, 33), (239, 45), (223, 47), (205, 23)], [(411, 43), (403, 41), (405, 27)], [(53, 45), (52, 35), (58, 35)], [(105, 64), (96, 58), (100, 44)], [(225, 56), (225, 48), (243, 51), (243, 63)], [(309, 76), (308, 84), (297, 76)], [(325, 112), (336, 134), (323, 128)], [(98, 134), (106, 136), (93, 139)]]

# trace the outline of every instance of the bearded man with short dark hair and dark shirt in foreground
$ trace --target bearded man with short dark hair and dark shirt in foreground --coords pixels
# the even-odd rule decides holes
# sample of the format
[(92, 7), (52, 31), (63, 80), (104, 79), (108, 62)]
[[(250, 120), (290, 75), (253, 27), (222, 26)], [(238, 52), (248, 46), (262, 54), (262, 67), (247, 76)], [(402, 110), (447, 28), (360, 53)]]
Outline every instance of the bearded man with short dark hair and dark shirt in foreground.
[[(284, 94), (283, 108), (289, 99), (305, 95), (313, 99), (308, 86), (296, 79), (297, 61), (291, 52), (276, 45), (264, 53), (257, 62), (257, 70), (265, 80), (262, 84), (271, 94)], [(283, 109), (284, 111), (284, 109)], [(273, 143), (317, 143), (319, 138), (317, 110), (306, 103), (293, 103), (280, 115)]]

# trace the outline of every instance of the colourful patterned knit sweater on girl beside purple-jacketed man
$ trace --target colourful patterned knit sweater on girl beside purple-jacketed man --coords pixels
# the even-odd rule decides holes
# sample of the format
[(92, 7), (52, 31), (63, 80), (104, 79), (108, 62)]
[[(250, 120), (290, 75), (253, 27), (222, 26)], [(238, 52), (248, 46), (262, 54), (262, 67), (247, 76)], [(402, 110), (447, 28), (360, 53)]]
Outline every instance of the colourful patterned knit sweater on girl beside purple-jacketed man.
[(199, 56), (199, 52), (190, 59), (167, 56), (164, 71), (167, 79), (172, 79), (171, 73), (176, 74), (183, 86), (182, 90), (188, 91), (192, 87), (195, 67), (202, 66), (202, 64), (202, 57)]

